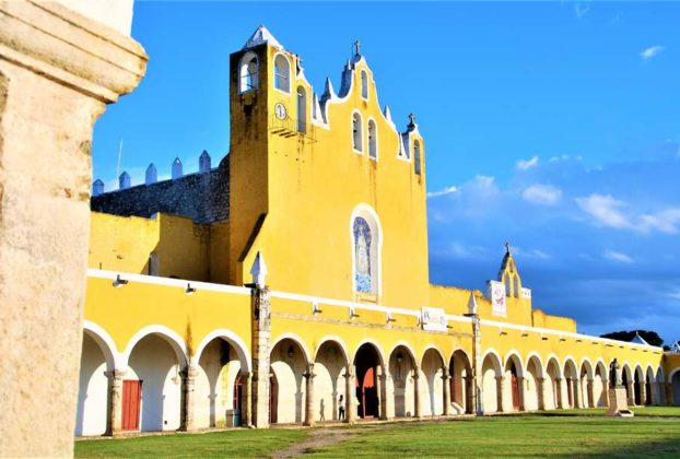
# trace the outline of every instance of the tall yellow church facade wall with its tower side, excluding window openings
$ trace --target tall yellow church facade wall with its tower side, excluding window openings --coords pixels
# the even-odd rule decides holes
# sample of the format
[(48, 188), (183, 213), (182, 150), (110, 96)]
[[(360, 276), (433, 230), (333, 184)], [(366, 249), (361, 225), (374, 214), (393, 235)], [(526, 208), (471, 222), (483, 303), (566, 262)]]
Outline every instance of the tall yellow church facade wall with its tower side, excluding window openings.
[[(232, 186), (231, 260), (238, 258), (237, 254), (245, 247), (245, 235), (250, 235), (257, 216), (268, 212), (253, 248), (238, 268), (242, 276), (233, 280), (239, 283), (249, 279), (249, 268), (260, 250), (265, 254), (272, 289), (353, 299), (350, 217), (357, 204), (366, 203), (377, 212), (384, 229), (383, 295), (378, 301), (414, 308), (425, 305), (429, 273), (424, 168), (417, 176), (412, 163), (397, 158), (398, 133), (382, 114), (365, 61), (355, 64), (352, 90), (345, 98), (329, 104), (330, 129), (326, 130), (310, 122), (313, 89), (302, 75), (295, 76), (296, 58), (282, 51), (293, 69), (291, 92), (284, 94), (272, 85), (271, 62), (278, 50), (267, 47), (266, 52), (262, 61), (267, 66), (260, 66), (260, 87), (250, 121), (245, 119), (248, 117), (244, 96), (232, 89), (232, 126), (238, 127), (232, 131), (231, 170), (232, 177), (245, 176)], [(232, 57), (232, 66), (239, 62), (238, 56)], [(368, 101), (359, 93), (362, 70), (368, 72), (371, 81)], [(232, 74), (235, 72), (232, 67)], [(267, 117), (273, 117), (277, 103), (283, 103), (292, 120), (296, 119), (297, 86), (304, 87), (307, 94), (307, 126), (309, 136), (314, 131), (314, 141), (302, 136), (282, 137), (263, 128)], [(260, 105), (265, 97), (266, 110)], [(354, 108), (363, 117), (363, 154), (352, 151)], [(377, 123), (377, 162), (367, 154), (370, 117)], [(261, 129), (259, 137), (249, 130), (256, 127)], [(422, 139), (420, 142), (422, 145)], [(424, 164), (424, 155), (421, 160)], [(244, 181), (248, 188), (242, 186)], [(268, 204), (261, 202), (266, 197)], [(255, 202), (239, 202), (251, 198)], [(244, 221), (236, 222), (244, 213)]]

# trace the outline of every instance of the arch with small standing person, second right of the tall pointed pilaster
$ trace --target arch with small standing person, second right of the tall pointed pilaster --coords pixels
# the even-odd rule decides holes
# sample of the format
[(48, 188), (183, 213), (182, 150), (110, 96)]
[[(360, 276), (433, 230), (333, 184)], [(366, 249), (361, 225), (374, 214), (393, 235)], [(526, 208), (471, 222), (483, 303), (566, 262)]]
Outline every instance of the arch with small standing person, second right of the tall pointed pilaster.
[(340, 408), (347, 405), (347, 377), (349, 367), (347, 345), (339, 337), (325, 337), (314, 354), (315, 421), (338, 421)]

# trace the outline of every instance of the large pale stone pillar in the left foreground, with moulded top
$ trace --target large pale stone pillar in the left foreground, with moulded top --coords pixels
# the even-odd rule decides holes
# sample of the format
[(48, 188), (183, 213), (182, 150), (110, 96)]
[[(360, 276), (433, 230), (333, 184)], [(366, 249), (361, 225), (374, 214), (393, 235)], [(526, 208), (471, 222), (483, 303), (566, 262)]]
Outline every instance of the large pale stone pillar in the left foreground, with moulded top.
[[(131, 1), (71, 3), (131, 20)], [(2, 456), (73, 454), (92, 127), (145, 67), (137, 42), (58, 2), (0, 1)]]

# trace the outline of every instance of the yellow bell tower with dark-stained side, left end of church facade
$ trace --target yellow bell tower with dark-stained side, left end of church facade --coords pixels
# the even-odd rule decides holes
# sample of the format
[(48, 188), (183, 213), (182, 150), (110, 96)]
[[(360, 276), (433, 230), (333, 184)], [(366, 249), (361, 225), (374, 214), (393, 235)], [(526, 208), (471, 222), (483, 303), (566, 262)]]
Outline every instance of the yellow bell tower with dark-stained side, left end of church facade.
[(263, 25), (230, 57), (228, 266), (236, 285), (245, 281), (245, 257), (269, 212), (269, 130), (274, 120), (291, 120), (296, 64)]

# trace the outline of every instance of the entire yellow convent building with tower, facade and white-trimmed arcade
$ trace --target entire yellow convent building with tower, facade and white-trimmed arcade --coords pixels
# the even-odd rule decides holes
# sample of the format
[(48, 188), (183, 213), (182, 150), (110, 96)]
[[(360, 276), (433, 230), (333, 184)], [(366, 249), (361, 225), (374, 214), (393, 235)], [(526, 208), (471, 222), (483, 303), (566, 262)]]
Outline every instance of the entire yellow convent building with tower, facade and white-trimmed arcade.
[(356, 46), (319, 97), (259, 27), (231, 56), (218, 167), (94, 184), (77, 435), (680, 403), (680, 354), (427, 272), (425, 141)]

